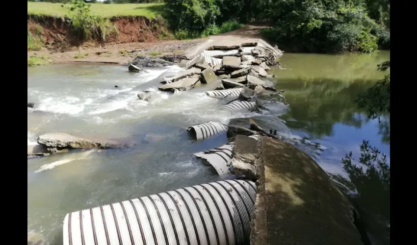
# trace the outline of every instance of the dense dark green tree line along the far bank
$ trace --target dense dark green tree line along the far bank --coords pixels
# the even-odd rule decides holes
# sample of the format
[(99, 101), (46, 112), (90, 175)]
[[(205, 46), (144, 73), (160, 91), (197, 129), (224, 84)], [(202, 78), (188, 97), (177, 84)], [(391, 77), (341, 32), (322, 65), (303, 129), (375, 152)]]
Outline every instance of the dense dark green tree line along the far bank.
[(303, 52), (373, 52), (390, 47), (389, 0), (164, 0), (172, 29), (203, 31), (266, 20), (271, 41)]

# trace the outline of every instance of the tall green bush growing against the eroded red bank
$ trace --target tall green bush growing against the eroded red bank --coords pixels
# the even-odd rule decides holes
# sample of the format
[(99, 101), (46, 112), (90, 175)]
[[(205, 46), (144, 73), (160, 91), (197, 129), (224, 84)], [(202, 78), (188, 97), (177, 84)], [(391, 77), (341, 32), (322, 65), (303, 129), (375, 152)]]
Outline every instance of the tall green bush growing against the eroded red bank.
[[(64, 5), (62, 5), (64, 7)], [(106, 41), (111, 35), (117, 34), (117, 28), (108, 19), (90, 14), (90, 4), (82, 0), (71, 0), (70, 6), (71, 23), (75, 34), (84, 39), (94, 38)]]

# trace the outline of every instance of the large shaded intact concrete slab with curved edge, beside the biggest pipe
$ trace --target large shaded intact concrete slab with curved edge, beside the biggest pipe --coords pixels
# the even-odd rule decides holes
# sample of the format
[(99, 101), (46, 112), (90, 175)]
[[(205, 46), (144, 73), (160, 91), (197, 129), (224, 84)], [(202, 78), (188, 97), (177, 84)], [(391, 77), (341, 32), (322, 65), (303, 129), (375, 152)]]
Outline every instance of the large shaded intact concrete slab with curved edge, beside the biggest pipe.
[(255, 209), (266, 211), (267, 241), (262, 244), (363, 245), (352, 205), (327, 173), (287, 142), (261, 141), (265, 203)]

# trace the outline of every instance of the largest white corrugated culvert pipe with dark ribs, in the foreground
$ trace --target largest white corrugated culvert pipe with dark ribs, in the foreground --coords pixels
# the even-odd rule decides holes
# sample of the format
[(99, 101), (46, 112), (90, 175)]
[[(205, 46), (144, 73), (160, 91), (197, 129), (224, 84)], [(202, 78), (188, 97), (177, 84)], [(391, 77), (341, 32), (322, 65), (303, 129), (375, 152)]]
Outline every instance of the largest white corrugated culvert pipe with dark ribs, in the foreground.
[(232, 179), (69, 213), (64, 245), (249, 244), (255, 197)]

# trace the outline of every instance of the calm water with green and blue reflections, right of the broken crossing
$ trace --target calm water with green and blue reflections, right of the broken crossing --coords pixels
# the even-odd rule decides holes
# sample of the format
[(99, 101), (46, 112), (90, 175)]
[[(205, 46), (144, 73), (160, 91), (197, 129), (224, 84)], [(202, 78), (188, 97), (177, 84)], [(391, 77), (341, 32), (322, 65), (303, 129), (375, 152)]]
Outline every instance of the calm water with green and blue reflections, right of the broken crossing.
[(273, 71), (290, 104), (281, 118), (293, 134), (330, 149), (317, 162), (345, 193), (354, 194), (369, 244), (390, 244), (391, 118), (368, 119), (355, 100), (384, 76), (377, 64), (389, 55), (286, 54), (288, 70)]

